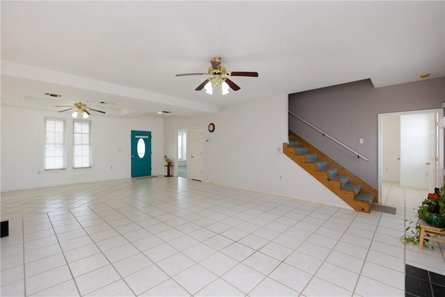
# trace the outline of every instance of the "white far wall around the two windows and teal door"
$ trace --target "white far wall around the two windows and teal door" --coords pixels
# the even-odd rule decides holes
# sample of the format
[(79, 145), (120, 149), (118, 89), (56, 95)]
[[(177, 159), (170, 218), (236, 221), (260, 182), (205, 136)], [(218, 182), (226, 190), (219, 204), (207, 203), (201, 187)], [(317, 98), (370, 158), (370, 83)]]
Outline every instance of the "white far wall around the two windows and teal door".
[[(44, 117), (67, 118), (67, 170), (43, 170)], [(72, 169), (70, 113), (1, 107), (1, 191), (131, 177), (131, 130), (152, 131), (152, 174), (163, 172), (163, 119), (91, 115), (92, 168)], [(111, 169), (111, 166), (113, 167)]]

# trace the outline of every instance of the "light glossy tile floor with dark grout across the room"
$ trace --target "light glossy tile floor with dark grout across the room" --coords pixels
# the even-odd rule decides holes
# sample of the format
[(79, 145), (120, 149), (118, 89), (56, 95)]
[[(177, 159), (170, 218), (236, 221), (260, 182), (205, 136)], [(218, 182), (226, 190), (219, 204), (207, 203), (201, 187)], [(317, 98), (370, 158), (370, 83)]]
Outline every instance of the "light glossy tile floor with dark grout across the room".
[(399, 240), (426, 191), (383, 192), (398, 214), (181, 177), (3, 192), (1, 296), (405, 296), (445, 246)]

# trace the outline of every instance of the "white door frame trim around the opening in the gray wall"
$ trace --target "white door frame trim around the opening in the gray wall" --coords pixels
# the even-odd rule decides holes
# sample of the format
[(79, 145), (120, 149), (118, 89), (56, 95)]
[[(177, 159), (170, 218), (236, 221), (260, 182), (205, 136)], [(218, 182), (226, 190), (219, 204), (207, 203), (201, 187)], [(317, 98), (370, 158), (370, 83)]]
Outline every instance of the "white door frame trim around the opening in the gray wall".
[[(419, 113), (437, 113), (439, 119), (444, 117), (444, 109), (426, 109), (421, 111), (400, 111), (396, 113), (379, 113), (378, 114), (378, 202), (382, 202), (382, 117), (391, 115), (413, 115)], [(444, 180), (444, 129), (439, 129), (438, 135), (438, 152), (439, 165), (436, 174), (436, 186), (442, 186)]]

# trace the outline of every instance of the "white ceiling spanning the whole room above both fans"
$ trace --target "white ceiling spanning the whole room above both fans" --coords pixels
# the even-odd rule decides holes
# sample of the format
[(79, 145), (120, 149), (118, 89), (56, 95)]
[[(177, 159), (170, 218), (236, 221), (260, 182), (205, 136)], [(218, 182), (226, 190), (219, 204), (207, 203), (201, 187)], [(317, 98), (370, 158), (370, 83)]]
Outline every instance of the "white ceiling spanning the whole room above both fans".
[[(445, 76), (444, 1), (1, 1), (1, 102), (107, 115), (218, 106), (371, 79)], [(195, 88), (221, 56), (241, 90)], [(64, 95), (56, 101), (44, 93)], [(113, 102), (113, 106), (99, 102)]]

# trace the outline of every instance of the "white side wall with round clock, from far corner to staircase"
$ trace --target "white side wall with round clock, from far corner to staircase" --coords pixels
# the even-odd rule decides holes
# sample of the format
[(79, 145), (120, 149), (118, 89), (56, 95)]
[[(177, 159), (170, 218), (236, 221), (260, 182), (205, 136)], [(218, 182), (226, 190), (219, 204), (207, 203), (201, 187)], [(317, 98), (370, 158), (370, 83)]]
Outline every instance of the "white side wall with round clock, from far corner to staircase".
[[(210, 122), (213, 133), (207, 130)], [(189, 127), (203, 127), (203, 182), (348, 207), (282, 154), (288, 141), (287, 95), (222, 106), (218, 114), (200, 118), (165, 118), (166, 154), (175, 152), (175, 129)]]

